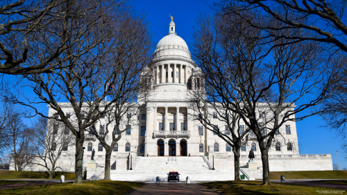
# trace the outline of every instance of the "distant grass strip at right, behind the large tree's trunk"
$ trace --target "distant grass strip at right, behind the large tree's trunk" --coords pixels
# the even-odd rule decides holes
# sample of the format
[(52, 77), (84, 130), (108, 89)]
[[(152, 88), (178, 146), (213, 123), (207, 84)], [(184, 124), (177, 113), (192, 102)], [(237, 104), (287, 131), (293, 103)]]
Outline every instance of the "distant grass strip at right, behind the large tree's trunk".
[(285, 179), (347, 179), (347, 171), (271, 171), (271, 180)]

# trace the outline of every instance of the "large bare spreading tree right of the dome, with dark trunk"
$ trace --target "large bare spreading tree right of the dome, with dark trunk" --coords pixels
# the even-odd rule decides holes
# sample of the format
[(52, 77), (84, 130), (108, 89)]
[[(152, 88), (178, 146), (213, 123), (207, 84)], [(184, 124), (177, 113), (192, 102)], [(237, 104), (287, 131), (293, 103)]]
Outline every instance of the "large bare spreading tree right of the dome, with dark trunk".
[[(321, 103), (332, 84), (332, 71), (344, 60), (324, 64), (319, 44), (266, 40), (243, 17), (229, 12), (216, 15), (221, 17), (217, 24), (209, 19), (199, 22), (194, 56), (205, 74), (206, 88), (213, 90), (213, 101), (239, 115), (254, 133), (262, 153), (263, 182), (269, 185), (268, 152), (280, 139), (278, 130), (287, 121), (319, 113), (305, 111)], [(247, 19), (258, 17), (249, 13)]]

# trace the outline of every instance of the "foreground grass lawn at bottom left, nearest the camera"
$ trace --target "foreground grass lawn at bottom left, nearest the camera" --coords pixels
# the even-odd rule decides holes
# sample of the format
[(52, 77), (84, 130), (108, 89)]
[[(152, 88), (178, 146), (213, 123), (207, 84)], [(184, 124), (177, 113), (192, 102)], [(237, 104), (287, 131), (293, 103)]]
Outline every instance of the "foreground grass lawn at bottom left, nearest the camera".
[(85, 181), (83, 184), (56, 183), (52, 185), (34, 185), (12, 189), (0, 189), (0, 194), (125, 194), (144, 185), (144, 183), (121, 181)]

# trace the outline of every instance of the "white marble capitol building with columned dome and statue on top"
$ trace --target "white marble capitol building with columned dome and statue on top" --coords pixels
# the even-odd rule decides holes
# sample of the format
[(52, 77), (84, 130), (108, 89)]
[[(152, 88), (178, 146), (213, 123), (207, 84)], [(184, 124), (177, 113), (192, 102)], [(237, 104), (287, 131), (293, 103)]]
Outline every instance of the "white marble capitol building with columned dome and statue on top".
[[(201, 177), (204, 173), (210, 179), (215, 176), (219, 180), (221, 180), (220, 176), (227, 171), (228, 176), (222, 180), (233, 179), (234, 162), (230, 146), (212, 131), (205, 129), (198, 121), (189, 117), (189, 112), (192, 110), (189, 110), (187, 95), (192, 87), (200, 87), (198, 83), (201, 80), (196, 77), (200, 69), (191, 59), (185, 40), (176, 34), (175, 27), (175, 23), (171, 21), (169, 33), (158, 42), (153, 60), (146, 67), (154, 73), (153, 93), (145, 105), (139, 107), (139, 115), (133, 116), (136, 123), (124, 132), (115, 146), (111, 158), (112, 179), (139, 180), (141, 176), (136, 174), (146, 170), (153, 175), (163, 177), (168, 171), (177, 170), (183, 175), (192, 176), (192, 179), (194, 179), (194, 173), (199, 173)], [(71, 112), (68, 105), (62, 108), (65, 112)], [(52, 108), (49, 108), (49, 115), (54, 115), (54, 112)], [(215, 116), (212, 116), (212, 120), (214, 118)], [(105, 122), (102, 120), (100, 124), (96, 124), (97, 127), (103, 128), (102, 124)], [(218, 119), (214, 120), (219, 126), (225, 126)], [(244, 126), (239, 128), (242, 129)], [(271, 171), (332, 170), (330, 154), (299, 154), (295, 122), (288, 122), (280, 129), (280, 132), (285, 135), (287, 142), (285, 144), (279, 142), (278, 146), (271, 148), (269, 152)], [(92, 149), (96, 151), (97, 164), (103, 167), (105, 150), (96, 137), (88, 135), (85, 139), (83, 167), (87, 167)], [(261, 178), (262, 162), (255, 139), (248, 139), (242, 144), (240, 164), (245, 168), (244, 170), (247, 169), (246, 163), (251, 149), (255, 153), (255, 169), (257, 170), (253, 176)], [(129, 160), (130, 155), (132, 160)], [(216, 169), (214, 171), (210, 170), (213, 166), (212, 155), (214, 155)], [(74, 170), (73, 148), (63, 153), (60, 166), (70, 171)], [(134, 172), (128, 170), (130, 168)], [(102, 171), (100, 174), (102, 175)], [(90, 176), (88, 173), (88, 178)]]

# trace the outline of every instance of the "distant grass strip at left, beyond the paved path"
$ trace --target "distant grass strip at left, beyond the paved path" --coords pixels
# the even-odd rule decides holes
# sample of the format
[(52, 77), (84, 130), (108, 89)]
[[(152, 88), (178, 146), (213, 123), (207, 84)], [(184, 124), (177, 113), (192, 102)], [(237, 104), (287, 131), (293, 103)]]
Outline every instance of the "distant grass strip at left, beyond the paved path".
[[(53, 179), (60, 179), (60, 176), (64, 175), (65, 180), (74, 180), (75, 173), (73, 172), (55, 172)], [(0, 171), (0, 180), (9, 179), (46, 179), (48, 174), (46, 171)]]

